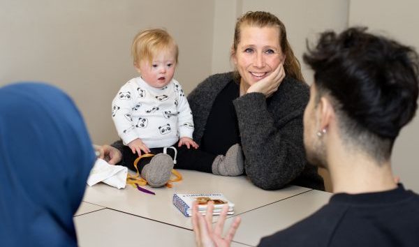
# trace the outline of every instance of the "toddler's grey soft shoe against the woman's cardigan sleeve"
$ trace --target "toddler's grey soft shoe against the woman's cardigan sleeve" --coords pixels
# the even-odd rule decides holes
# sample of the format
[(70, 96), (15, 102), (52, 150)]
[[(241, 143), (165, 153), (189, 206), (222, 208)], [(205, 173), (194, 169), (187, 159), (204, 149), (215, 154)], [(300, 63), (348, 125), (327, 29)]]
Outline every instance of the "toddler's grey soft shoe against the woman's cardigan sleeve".
[(223, 176), (239, 176), (244, 171), (244, 157), (240, 144), (228, 149), (226, 156), (216, 156), (212, 163), (212, 173)]

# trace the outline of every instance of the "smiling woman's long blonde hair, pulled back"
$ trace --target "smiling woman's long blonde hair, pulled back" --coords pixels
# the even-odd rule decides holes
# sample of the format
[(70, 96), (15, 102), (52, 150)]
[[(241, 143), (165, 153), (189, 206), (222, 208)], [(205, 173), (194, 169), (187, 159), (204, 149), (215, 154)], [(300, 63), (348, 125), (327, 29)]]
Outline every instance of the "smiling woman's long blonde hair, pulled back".
[[(250, 27), (278, 27), (279, 29), (279, 43), (281, 44), (281, 50), (285, 54), (284, 69), (288, 76), (291, 76), (301, 82), (305, 82), (304, 77), (301, 73), (300, 62), (295, 57), (291, 45), (286, 39), (286, 29), (284, 23), (282, 23), (278, 17), (271, 13), (264, 11), (249, 11), (237, 19), (234, 31), (233, 41), (233, 52), (237, 52), (237, 45), (240, 43), (241, 28), (243, 25), (249, 25)], [(233, 55), (233, 54), (232, 54)], [(235, 78), (240, 79), (240, 74), (235, 70)]]

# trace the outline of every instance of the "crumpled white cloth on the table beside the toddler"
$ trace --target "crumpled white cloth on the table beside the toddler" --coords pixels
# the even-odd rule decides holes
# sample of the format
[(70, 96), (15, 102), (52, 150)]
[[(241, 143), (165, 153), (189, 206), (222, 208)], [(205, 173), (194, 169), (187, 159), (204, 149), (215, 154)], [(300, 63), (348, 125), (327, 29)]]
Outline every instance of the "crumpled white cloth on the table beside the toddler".
[(105, 160), (98, 158), (90, 171), (87, 184), (94, 186), (103, 182), (116, 188), (125, 188), (128, 168), (121, 165), (110, 165)]

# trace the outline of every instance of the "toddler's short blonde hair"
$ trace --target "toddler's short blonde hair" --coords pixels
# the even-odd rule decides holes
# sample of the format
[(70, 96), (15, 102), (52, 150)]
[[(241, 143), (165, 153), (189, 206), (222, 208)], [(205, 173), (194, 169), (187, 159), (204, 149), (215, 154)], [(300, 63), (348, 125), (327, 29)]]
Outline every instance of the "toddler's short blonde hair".
[(131, 45), (131, 54), (133, 56), (134, 65), (142, 59), (147, 59), (149, 63), (152, 63), (153, 57), (156, 56), (162, 50), (175, 50), (175, 58), (177, 63), (177, 57), (179, 56), (179, 49), (175, 40), (170, 34), (163, 29), (146, 29), (140, 31)]

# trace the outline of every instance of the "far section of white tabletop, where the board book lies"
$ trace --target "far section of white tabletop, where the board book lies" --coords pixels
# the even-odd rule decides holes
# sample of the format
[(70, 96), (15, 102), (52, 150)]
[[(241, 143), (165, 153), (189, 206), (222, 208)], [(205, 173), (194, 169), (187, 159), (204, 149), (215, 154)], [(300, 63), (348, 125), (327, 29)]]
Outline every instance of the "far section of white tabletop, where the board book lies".
[(117, 190), (106, 184), (97, 184), (87, 187), (83, 201), (191, 230), (191, 220), (172, 204), (173, 193), (223, 193), (235, 204), (235, 215), (238, 215), (311, 190), (299, 186), (262, 190), (244, 176), (223, 177), (205, 172), (178, 171), (183, 180), (172, 183), (172, 188), (145, 187), (156, 195), (142, 193), (132, 186)]

